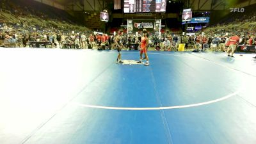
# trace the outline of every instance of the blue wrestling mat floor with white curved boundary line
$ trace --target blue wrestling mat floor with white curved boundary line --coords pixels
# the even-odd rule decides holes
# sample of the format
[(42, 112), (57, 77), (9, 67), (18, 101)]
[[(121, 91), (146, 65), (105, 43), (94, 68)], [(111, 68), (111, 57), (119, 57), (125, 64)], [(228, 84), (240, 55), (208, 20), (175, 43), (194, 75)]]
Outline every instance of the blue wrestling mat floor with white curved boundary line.
[(116, 54), (0, 48), (0, 143), (256, 143), (255, 54)]

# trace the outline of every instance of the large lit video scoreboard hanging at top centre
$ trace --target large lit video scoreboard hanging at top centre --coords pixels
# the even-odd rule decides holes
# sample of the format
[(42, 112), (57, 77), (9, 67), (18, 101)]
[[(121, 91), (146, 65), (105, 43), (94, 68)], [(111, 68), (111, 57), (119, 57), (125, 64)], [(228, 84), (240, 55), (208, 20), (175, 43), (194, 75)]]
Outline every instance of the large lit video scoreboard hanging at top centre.
[(166, 0), (124, 0), (124, 13), (156, 13), (166, 11)]

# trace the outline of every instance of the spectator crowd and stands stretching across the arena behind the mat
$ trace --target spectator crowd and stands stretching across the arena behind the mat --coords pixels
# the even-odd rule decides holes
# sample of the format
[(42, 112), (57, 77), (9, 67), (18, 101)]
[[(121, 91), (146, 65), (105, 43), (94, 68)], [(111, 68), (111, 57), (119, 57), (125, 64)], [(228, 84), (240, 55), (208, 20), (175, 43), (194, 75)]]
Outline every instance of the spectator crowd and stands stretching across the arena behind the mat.
[[(4, 47), (59, 47), (65, 49), (115, 49), (115, 36), (93, 33), (72, 20), (47, 15), (33, 8), (20, 8), (3, 0), (0, 9), (0, 46)], [(60, 12), (60, 15), (65, 13)], [(68, 17), (68, 16), (67, 16)], [(66, 18), (67, 18), (66, 17)], [(29, 21), (31, 20), (31, 21)], [(232, 17), (215, 26), (202, 29), (195, 35), (163, 33), (148, 34), (149, 47), (155, 51), (177, 51), (180, 44), (191, 51), (227, 52), (255, 51), (255, 12), (243, 17)], [(123, 49), (138, 49), (141, 35), (122, 35)], [(230, 46), (233, 45), (233, 46)], [(234, 46), (236, 45), (236, 47)], [(235, 47), (235, 48), (234, 48)], [(230, 52), (231, 50), (231, 52)]]

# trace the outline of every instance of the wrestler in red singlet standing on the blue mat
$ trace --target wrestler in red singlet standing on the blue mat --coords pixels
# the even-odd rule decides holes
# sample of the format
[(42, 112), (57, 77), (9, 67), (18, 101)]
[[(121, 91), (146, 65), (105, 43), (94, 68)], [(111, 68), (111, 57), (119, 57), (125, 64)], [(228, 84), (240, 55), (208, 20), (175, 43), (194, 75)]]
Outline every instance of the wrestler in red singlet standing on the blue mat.
[(141, 38), (141, 43), (140, 43), (140, 61), (138, 61), (138, 63), (141, 63), (142, 61), (142, 54), (145, 54), (147, 63), (145, 64), (145, 66), (149, 65), (149, 60), (148, 60), (148, 54), (147, 54), (147, 46), (148, 46), (148, 38), (147, 38), (147, 31), (143, 31), (143, 37)]

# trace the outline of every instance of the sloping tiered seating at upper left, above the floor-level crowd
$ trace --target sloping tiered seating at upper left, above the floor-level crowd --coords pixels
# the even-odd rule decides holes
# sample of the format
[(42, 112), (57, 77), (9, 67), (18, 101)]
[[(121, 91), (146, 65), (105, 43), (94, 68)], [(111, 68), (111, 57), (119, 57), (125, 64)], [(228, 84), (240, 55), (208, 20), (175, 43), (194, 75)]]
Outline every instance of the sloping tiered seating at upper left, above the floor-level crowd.
[[(35, 28), (76, 29), (88, 31), (79, 22), (63, 10), (32, 0), (3, 0), (0, 22), (13, 26), (35, 26)], [(18, 26), (19, 27), (19, 26)]]

